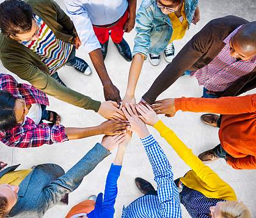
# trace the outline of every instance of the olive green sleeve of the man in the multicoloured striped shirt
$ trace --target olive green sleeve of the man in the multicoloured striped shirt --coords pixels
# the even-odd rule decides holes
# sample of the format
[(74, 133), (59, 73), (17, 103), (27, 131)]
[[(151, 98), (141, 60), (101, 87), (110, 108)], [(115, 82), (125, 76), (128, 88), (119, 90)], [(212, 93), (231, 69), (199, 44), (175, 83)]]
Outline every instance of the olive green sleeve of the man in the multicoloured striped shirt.
[[(20, 58), (19, 58), (20, 60)], [(88, 96), (84, 96), (76, 91), (60, 85), (57, 80), (49, 76), (47, 72), (41, 71), (36, 66), (29, 63), (18, 61), (16, 57), (2, 59), (2, 64), (6, 69), (18, 75), (21, 79), (31, 83), (35, 88), (42, 90), (56, 99), (63, 100), (68, 104), (75, 105), (87, 110), (98, 111), (100, 102), (93, 100)]]

